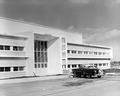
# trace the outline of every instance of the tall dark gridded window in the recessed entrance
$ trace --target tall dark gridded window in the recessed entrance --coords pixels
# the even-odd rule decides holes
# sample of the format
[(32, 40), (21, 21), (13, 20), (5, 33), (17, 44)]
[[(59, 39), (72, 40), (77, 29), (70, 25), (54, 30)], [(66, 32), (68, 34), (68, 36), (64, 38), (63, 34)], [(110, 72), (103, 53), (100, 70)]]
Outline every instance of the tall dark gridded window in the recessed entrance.
[(47, 41), (34, 41), (34, 60), (38, 66), (43, 65), (43, 67), (39, 68), (47, 67)]

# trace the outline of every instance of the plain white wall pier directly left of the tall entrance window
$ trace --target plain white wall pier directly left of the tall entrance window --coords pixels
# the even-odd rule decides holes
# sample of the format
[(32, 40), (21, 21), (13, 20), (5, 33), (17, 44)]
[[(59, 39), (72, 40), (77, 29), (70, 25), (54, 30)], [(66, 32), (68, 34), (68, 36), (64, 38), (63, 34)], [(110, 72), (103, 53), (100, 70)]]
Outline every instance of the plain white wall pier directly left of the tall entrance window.
[(26, 56), (26, 76), (34, 76), (34, 33), (33, 32), (22, 32), (19, 33), (27, 36), (25, 41), (25, 52)]

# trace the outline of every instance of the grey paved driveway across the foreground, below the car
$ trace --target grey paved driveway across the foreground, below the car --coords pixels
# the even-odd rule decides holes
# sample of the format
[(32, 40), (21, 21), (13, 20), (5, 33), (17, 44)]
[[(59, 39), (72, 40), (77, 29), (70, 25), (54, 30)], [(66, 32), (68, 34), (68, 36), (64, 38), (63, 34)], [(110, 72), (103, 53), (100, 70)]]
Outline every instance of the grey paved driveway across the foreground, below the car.
[(65, 78), (0, 85), (0, 96), (120, 96), (119, 76)]

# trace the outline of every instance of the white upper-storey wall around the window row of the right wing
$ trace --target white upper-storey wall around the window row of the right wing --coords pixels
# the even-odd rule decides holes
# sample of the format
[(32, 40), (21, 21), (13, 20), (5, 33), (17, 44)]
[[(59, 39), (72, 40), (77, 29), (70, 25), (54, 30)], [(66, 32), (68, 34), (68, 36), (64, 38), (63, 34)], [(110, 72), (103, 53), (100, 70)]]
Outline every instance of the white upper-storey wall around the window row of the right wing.
[[(76, 54), (68, 53), (68, 58), (112, 58), (112, 49), (103, 49), (103, 48), (94, 48), (94, 47), (85, 47), (85, 46), (75, 46), (67, 45), (68, 50), (77, 51)], [(82, 54), (78, 54), (78, 51), (82, 51)], [(84, 51), (92, 52), (91, 54), (84, 54)], [(105, 52), (106, 54), (95, 55), (94, 52)]]

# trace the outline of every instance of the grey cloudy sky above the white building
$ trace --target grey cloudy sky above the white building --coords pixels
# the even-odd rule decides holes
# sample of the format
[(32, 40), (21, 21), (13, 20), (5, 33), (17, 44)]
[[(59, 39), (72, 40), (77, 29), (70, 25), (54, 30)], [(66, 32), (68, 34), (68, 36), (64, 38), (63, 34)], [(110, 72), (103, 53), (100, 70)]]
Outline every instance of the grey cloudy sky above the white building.
[(0, 16), (83, 33), (120, 60), (120, 0), (0, 0)]

